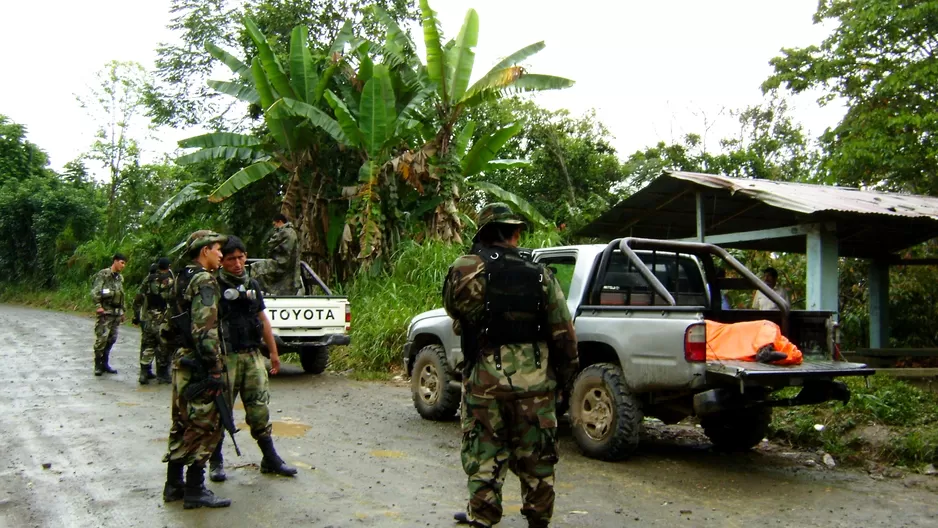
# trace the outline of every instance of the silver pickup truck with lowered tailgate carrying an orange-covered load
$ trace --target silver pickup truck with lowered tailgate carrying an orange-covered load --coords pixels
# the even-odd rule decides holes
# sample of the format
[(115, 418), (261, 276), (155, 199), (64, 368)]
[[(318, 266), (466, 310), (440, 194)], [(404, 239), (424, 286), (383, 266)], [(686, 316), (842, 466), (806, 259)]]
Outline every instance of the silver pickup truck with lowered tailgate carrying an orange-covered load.
[[(873, 374), (866, 365), (842, 361), (836, 314), (791, 310), (712, 244), (624, 238), (537, 249), (531, 258), (553, 270), (575, 318), (581, 371), (565, 400), (573, 436), (587, 456), (630, 455), (644, 416), (669, 424), (696, 416), (716, 447), (749, 449), (765, 436), (773, 407), (846, 402), (850, 392), (834, 378)], [(719, 261), (739, 278), (718, 279)], [(759, 290), (778, 310), (724, 310), (725, 289)], [(705, 320), (773, 321), (804, 362), (707, 361)], [(411, 320), (403, 360), (420, 415), (451, 418), (459, 407), (463, 356), (445, 311)], [(785, 387), (800, 391), (773, 397)]]

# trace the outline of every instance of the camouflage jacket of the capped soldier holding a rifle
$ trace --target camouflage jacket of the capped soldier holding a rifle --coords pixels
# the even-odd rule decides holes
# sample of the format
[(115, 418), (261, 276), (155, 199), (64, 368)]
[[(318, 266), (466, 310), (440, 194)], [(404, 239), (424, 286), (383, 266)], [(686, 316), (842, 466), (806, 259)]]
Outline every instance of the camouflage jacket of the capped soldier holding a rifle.
[(192, 338), (202, 362), (209, 370), (221, 372), (222, 355), (218, 337), (218, 300), (221, 291), (215, 276), (198, 265), (186, 290), (181, 292), (180, 305), (188, 308), (191, 317)]

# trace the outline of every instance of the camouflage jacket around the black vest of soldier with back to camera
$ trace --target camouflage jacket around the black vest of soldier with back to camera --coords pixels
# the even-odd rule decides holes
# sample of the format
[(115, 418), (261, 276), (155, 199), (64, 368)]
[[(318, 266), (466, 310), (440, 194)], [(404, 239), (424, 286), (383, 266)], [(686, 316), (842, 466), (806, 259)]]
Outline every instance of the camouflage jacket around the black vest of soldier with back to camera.
[[(511, 251), (505, 248), (506, 252)], [(519, 257), (520, 258), (520, 257)], [(468, 379), (468, 390), (482, 398), (497, 398), (506, 395), (523, 397), (555, 391), (558, 382), (566, 387), (576, 375), (579, 359), (576, 348), (576, 333), (563, 290), (557, 279), (544, 269), (548, 280), (543, 291), (547, 301), (546, 341), (501, 345), (501, 368), (495, 364), (495, 349), (482, 344), (476, 364)], [(462, 322), (481, 323), (484, 317), (485, 262), (478, 255), (463, 255), (450, 266), (443, 283), (443, 306), (454, 319), (453, 329), (462, 332)], [(547, 350), (548, 354), (537, 367), (535, 350)], [(543, 356), (543, 354), (542, 354)]]

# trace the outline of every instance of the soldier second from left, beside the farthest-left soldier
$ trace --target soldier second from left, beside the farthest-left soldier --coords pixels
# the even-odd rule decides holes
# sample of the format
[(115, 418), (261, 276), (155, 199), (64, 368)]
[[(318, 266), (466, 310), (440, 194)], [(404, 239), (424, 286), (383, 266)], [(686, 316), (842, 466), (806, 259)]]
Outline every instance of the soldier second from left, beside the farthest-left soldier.
[(134, 324), (140, 325), (140, 377), (138, 382), (146, 385), (156, 376), (151, 364), (156, 360), (160, 383), (170, 383), (168, 376), (168, 353), (160, 343), (160, 328), (166, 315), (166, 300), (161, 295), (163, 284), (172, 280), (169, 259), (163, 257), (150, 266), (150, 274), (143, 279), (140, 292), (134, 298)]

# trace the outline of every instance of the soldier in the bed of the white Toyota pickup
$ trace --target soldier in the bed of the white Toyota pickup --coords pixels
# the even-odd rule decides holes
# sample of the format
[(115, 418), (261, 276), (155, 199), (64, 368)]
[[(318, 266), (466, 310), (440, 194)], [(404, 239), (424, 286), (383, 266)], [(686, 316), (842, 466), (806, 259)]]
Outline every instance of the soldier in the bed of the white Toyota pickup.
[(254, 278), (271, 295), (296, 295), (303, 287), (300, 276), (299, 240), (287, 217), (274, 217), (274, 232), (267, 239), (269, 258), (252, 266)]

